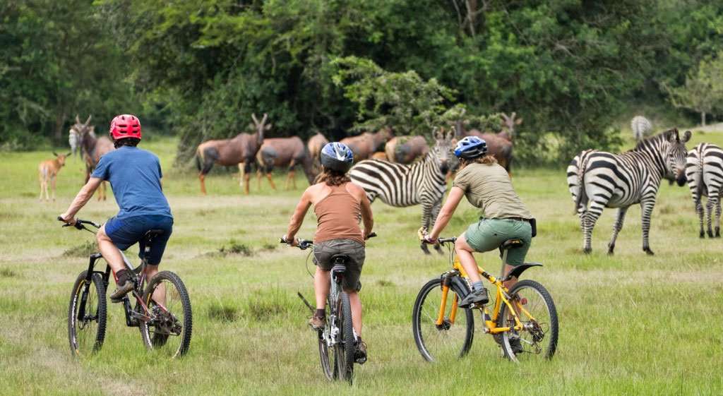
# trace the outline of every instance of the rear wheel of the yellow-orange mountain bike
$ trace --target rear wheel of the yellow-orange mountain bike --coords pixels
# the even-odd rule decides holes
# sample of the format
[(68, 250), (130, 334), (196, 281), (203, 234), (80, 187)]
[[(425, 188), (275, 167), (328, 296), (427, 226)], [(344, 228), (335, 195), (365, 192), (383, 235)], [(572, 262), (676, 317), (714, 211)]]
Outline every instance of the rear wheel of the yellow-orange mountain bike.
[[(512, 361), (536, 357), (552, 358), (557, 349), (557, 310), (552, 296), (534, 280), (521, 280), (510, 289), (510, 304), (523, 330), (502, 333), (502, 350)], [(513, 327), (515, 320), (506, 304), (497, 319), (500, 327)]]

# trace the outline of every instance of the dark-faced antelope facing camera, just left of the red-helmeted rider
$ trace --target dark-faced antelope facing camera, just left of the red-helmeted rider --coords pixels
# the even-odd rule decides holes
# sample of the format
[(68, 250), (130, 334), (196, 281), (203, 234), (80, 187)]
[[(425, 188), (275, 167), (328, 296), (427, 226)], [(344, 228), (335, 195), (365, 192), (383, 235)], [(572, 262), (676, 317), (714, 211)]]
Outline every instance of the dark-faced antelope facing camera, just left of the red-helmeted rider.
[[(80, 122), (80, 119), (76, 115), (75, 124), (70, 127), (70, 131), (68, 132), (68, 141), (71, 150), (74, 151), (80, 147), (80, 154), (82, 158), (85, 158), (84, 183), (87, 183), (90, 174), (93, 173), (95, 169), (95, 165), (98, 165), (100, 157), (106, 154), (106, 152), (116, 150), (113, 142), (111, 142), (111, 139), (108, 139), (108, 137), (95, 137), (95, 126), (89, 125), (90, 119), (92, 118), (93, 116), (88, 116), (85, 122)], [(101, 199), (105, 201), (107, 198), (106, 183), (103, 182), (98, 188), (98, 201)]]

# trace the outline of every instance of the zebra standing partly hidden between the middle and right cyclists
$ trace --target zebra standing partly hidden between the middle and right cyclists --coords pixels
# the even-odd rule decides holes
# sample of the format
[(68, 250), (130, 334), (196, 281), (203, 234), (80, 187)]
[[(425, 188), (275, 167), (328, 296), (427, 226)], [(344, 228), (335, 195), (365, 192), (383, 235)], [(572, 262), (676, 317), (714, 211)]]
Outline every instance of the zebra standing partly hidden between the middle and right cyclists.
[[(367, 191), (369, 202), (379, 197), (394, 207), (422, 204), (422, 227), (432, 229), (442, 207), (447, 189), (445, 176), (449, 171), (453, 133), (434, 132), (435, 145), (423, 160), (402, 165), (382, 160), (364, 160), (351, 168), (351, 181)], [(427, 246), (420, 246), (429, 254)], [(435, 246), (440, 251), (440, 246)]]

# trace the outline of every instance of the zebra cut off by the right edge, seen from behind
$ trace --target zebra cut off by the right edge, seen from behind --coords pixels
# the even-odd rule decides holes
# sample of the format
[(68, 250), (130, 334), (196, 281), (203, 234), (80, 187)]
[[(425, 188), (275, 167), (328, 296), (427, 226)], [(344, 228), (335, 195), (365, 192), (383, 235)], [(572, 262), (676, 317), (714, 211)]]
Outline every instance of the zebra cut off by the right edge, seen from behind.
[(716, 208), (716, 238), (721, 236), (721, 194), (723, 189), (723, 150), (710, 143), (701, 143), (688, 152), (688, 163), (685, 164), (685, 176), (688, 178), (690, 195), (696, 205), (698, 219), (701, 221), (701, 238), (703, 233), (703, 197), (708, 197), (708, 236), (713, 238), (711, 221), (713, 208)]

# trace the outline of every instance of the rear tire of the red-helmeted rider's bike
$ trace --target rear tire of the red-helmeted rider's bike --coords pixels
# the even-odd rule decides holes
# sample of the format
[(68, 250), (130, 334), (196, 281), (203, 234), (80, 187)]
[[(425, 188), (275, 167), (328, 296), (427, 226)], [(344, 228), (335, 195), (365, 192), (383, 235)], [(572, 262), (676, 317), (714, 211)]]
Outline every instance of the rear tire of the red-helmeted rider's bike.
[[(189, 346), (191, 345), (191, 337), (193, 332), (193, 314), (191, 309), (191, 299), (189, 298), (188, 291), (186, 289), (186, 285), (184, 285), (181, 278), (176, 275), (174, 272), (171, 271), (161, 271), (158, 272), (155, 276), (153, 276), (153, 279), (150, 280), (148, 285), (146, 285), (145, 292), (143, 293), (143, 302), (146, 304), (148, 309), (154, 309), (154, 306), (160, 307), (160, 305), (156, 304), (155, 301), (151, 300), (151, 297), (153, 296), (154, 290), (163, 283), (163, 281), (168, 281), (171, 285), (173, 285), (174, 289), (177, 291), (178, 295), (174, 296), (174, 292), (171, 291), (171, 296), (173, 298), (177, 298), (180, 305), (181, 305), (181, 313), (183, 314), (182, 319), (177, 319), (177, 315), (179, 314), (177, 309), (173, 309), (173, 311), (164, 311), (164, 313), (167, 312), (167, 317), (165, 319), (168, 319), (166, 323), (163, 324), (155, 324), (154, 321), (151, 322), (140, 322), (139, 328), (141, 333), (141, 338), (143, 340), (143, 344), (148, 349), (153, 350), (164, 350), (164, 349), (170, 349), (167, 350), (166, 353), (170, 354), (171, 358), (181, 357), (184, 356), (189, 349)], [(168, 304), (168, 290), (166, 291), (166, 308), (170, 306)], [(165, 331), (165, 327), (167, 327), (167, 322), (173, 322), (173, 325), (180, 324), (181, 330), (179, 337), (179, 343), (177, 348), (164, 348), (166, 347), (168, 343), (168, 337), (169, 334), (167, 331)], [(161, 330), (161, 327), (163, 327), (163, 331)], [(153, 334), (153, 336), (151, 336)]]

